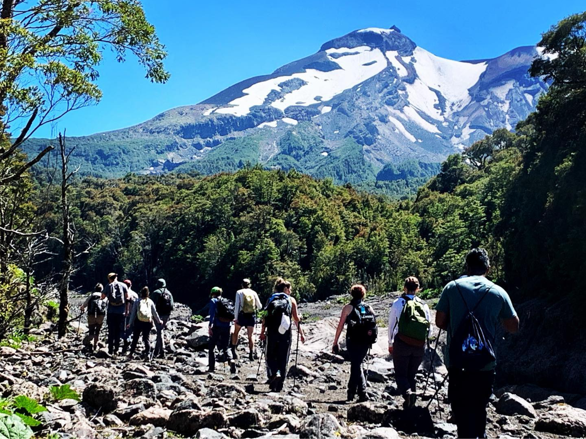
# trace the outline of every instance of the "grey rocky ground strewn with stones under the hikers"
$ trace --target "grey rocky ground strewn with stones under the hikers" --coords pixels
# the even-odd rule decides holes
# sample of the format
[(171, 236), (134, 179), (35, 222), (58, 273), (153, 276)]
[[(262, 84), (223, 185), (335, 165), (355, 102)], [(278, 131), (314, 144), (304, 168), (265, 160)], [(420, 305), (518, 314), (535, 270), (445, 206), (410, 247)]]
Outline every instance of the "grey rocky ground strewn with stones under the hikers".
[[(390, 300), (370, 303), (387, 310)], [(227, 363), (219, 363), (216, 373), (207, 374), (207, 323), (190, 323), (189, 308), (183, 306), (168, 324), (172, 341), (166, 358), (152, 362), (110, 358), (104, 348), (88, 354), (81, 349), (75, 323), (71, 334), (60, 341), (52, 324), (43, 324), (36, 330), (36, 341), (19, 349), (0, 348), (0, 393), (5, 398), (27, 395), (42, 401), (47, 411), (36, 415), (42, 424), (33, 429), (38, 437), (47, 438), (455, 437), (447, 385), (441, 386), (446, 375), (441, 359), (434, 362), (424, 392), (430, 364), (426, 357), (419, 374), (418, 407), (401, 410), (393, 363), (386, 355), (386, 328), (381, 328), (367, 365), (372, 401), (345, 402), (349, 365), (330, 352), (343, 302), (344, 298), (334, 298), (301, 305), (308, 339), (299, 345), (297, 367), (294, 339), (282, 393), (269, 392), (264, 362), (257, 375), (259, 361), (246, 359), (244, 338), (236, 373), (230, 372)], [(380, 323), (384, 320), (386, 311), (381, 312)], [(80, 332), (84, 330), (81, 325)], [(66, 383), (79, 393), (79, 402), (50, 396), (50, 386)], [(438, 396), (430, 402), (437, 387)], [(488, 434), (584, 437), (583, 409), (586, 399), (580, 395), (530, 385), (507, 386), (496, 390), (489, 404)]]

